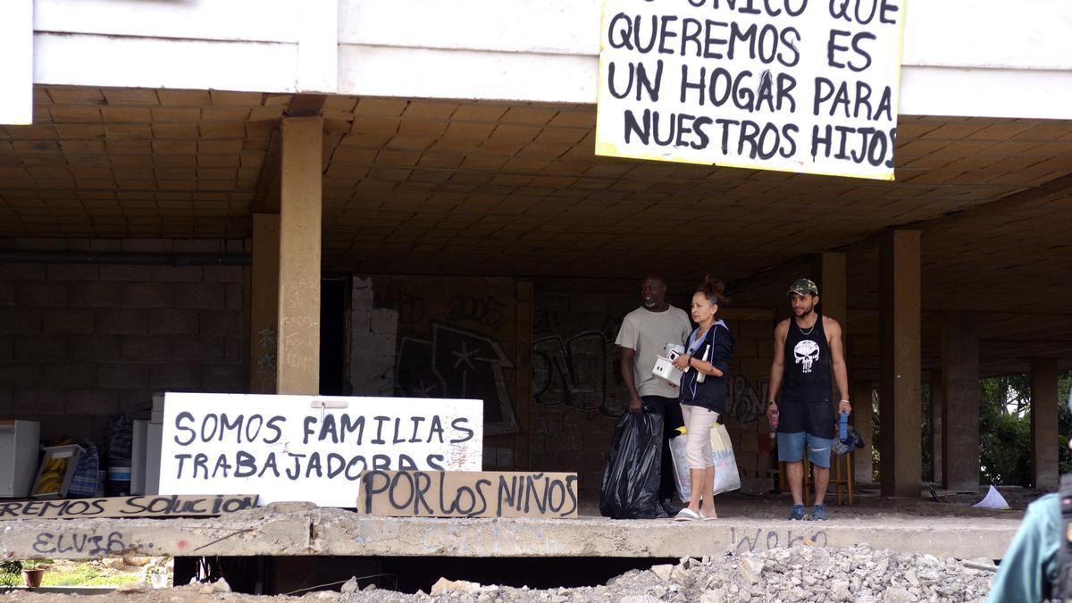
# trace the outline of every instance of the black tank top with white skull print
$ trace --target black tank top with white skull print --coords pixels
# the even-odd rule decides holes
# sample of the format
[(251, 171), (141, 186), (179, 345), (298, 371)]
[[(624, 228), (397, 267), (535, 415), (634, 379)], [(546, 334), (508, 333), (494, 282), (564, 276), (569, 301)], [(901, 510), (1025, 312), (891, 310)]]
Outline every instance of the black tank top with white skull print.
[(785, 372), (781, 396), (794, 402), (829, 402), (833, 382), (830, 376), (830, 345), (822, 328), (822, 314), (806, 330), (789, 319), (786, 336)]

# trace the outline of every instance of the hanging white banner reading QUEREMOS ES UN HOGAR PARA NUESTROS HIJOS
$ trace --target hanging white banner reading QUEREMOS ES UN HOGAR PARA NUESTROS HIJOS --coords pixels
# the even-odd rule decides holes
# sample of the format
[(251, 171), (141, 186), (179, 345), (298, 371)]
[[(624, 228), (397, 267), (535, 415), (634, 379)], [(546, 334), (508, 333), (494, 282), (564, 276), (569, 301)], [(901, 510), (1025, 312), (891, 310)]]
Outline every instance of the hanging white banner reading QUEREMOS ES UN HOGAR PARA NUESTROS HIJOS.
[(596, 155), (893, 179), (904, 0), (605, 0)]

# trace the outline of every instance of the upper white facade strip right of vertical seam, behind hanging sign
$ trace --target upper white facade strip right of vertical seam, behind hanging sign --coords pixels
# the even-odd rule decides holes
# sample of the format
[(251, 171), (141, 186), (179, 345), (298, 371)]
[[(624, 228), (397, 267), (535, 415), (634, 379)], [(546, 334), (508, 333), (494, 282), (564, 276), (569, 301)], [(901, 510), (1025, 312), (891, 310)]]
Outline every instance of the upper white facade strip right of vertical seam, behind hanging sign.
[[(601, 0), (340, 0), (339, 42), (597, 55), (600, 13)], [(1072, 69), (1067, 0), (915, 0), (906, 18), (905, 64)]]

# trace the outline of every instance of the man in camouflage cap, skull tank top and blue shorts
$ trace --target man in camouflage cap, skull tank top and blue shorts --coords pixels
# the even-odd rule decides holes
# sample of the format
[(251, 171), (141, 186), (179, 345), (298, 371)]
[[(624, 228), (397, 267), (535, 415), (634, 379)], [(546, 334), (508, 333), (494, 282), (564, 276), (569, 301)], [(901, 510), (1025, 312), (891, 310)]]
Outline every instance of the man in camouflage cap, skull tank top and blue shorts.
[[(838, 412), (852, 412), (848, 371), (842, 350), (842, 325), (816, 311), (819, 289), (808, 279), (789, 288), (793, 318), (774, 329), (771, 396), (766, 418), (778, 432), (778, 460), (786, 464), (786, 480), (793, 495), (790, 519), (804, 519), (804, 445), (808, 447), (815, 479), (815, 506), (807, 517), (827, 519), (827, 484), (834, 443), (834, 412), (830, 403), (831, 372), (840, 394)], [(788, 366), (786, 363), (789, 363)], [(775, 401), (781, 392), (780, 407)]]

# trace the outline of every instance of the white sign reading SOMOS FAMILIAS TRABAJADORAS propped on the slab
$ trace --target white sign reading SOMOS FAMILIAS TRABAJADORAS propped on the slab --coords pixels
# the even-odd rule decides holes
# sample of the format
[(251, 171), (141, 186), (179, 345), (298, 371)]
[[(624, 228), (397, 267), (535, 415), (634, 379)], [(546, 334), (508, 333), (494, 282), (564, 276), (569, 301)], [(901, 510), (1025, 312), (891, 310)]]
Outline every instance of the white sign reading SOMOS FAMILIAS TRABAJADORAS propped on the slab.
[(354, 506), (366, 470), (480, 471), (483, 402), (167, 394), (161, 495)]

